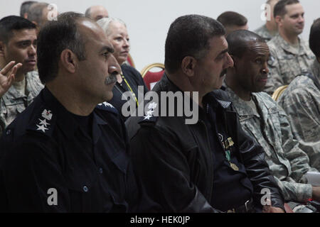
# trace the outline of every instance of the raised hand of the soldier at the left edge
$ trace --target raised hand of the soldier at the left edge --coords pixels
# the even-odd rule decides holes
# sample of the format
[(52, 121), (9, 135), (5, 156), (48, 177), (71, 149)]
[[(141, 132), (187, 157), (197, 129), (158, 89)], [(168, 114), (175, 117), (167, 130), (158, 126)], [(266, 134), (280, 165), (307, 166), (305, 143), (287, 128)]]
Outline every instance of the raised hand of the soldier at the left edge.
[(11, 84), (14, 82), (14, 76), (18, 68), (22, 66), (21, 63), (14, 65), (16, 62), (9, 62), (1, 71), (0, 71), (0, 97), (2, 97), (8, 89), (11, 87)]

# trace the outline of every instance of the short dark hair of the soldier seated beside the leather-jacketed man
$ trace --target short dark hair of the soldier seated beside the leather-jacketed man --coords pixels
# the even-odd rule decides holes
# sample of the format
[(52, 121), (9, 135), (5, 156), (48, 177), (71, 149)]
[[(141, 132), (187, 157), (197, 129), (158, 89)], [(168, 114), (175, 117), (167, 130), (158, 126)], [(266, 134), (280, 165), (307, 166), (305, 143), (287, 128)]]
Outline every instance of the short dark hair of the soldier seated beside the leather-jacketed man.
[(260, 35), (247, 30), (233, 31), (227, 37), (228, 52), (230, 55), (242, 57), (247, 51), (248, 43), (255, 41), (257, 43), (265, 43), (265, 39)]

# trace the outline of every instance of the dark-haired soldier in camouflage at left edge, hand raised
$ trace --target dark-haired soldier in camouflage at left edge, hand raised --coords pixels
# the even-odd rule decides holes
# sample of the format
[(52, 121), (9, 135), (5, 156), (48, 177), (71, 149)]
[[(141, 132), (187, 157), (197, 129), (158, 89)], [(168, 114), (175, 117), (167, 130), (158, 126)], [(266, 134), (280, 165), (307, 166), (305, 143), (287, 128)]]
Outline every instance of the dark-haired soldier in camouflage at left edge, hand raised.
[(35, 71), (36, 42), (36, 26), (31, 21), (20, 16), (1, 19), (0, 68), (14, 61), (19, 69), (13, 79), (0, 74), (0, 135), (43, 89)]

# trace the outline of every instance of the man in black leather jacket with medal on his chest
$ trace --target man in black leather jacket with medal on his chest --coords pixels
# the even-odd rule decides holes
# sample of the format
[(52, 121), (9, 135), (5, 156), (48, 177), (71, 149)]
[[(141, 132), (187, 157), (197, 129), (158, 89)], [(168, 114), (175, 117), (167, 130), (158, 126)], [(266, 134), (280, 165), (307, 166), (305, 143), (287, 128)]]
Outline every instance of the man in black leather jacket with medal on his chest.
[[(233, 66), (224, 35), (214, 19), (188, 15), (171, 24), (166, 38), (166, 74), (153, 90), (158, 96), (184, 92), (184, 104), (192, 92), (196, 123), (186, 123), (186, 111), (178, 115), (178, 99), (171, 109), (153, 99), (145, 116), (127, 121), (139, 187), (153, 204), (145, 211), (283, 212), (262, 148), (242, 131), (219, 90)], [(168, 116), (172, 108), (175, 116)]]

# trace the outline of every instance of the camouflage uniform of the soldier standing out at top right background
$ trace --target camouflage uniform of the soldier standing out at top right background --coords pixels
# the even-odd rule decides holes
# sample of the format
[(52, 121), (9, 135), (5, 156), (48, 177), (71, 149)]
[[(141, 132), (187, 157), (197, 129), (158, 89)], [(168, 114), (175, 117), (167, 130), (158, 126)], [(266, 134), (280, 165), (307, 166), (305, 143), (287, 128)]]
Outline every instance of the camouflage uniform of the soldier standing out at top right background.
[(280, 35), (276, 35), (267, 45), (270, 48), (268, 82), (265, 92), (272, 94), (282, 85), (288, 85), (298, 75), (309, 72), (314, 54), (309, 45), (299, 38), (299, 51), (289, 45)]

